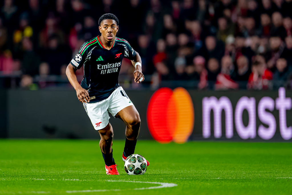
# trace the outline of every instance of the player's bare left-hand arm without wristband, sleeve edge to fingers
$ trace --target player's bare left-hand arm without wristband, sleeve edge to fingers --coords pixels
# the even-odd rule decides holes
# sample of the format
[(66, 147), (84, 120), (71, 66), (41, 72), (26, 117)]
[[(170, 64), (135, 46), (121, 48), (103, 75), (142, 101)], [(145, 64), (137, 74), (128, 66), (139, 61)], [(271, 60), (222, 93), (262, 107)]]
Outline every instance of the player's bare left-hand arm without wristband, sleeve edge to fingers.
[(66, 75), (68, 77), (69, 82), (76, 90), (77, 97), (80, 102), (89, 102), (90, 97), (89, 93), (86, 89), (82, 88), (81, 85), (77, 81), (76, 72), (77, 68), (74, 68), (71, 64), (69, 64), (66, 68)]

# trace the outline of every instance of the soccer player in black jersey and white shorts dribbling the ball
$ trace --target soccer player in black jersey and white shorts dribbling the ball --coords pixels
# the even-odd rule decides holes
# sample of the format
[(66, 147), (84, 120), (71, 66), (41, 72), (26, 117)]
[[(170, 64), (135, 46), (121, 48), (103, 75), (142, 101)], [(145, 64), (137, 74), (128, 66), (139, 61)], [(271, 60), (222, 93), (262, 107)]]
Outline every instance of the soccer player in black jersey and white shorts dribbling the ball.
[[(119, 175), (112, 156), (114, 132), (109, 123), (109, 114), (126, 123), (126, 142), (122, 159), (134, 154), (140, 130), (140, 116), (126, 92), (119, 86), (118, 76), (123, 58), (128, 58), (135, 66), (134, 81), (144, 81), (140, 55), (128, 41), (116, 37), (119, 20), (111, 13), (99, 20), (101, 35), (86, 41), (67, 66), (66, 75), (83, 103), (95, 130), (100, 134), (99, 146), (105, 160), (107, 175)], [(84, 78), (78, 83), (75, 72), (84, 66)], [(147, 166), (149, 162), (147, 161)]]

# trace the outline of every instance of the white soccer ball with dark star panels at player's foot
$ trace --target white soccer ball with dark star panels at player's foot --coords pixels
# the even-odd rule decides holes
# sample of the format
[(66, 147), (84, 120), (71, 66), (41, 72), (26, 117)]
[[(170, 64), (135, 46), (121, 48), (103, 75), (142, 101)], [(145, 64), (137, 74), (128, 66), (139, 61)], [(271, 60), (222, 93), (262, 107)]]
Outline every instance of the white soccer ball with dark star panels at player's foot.
[(143, 175), (147, 169), (147, 161), (139, 154), (132, 154), (126, 158), (124, 168), (128, 175)]

